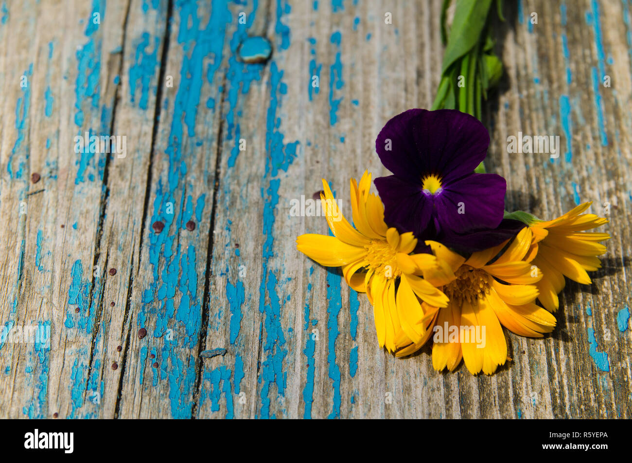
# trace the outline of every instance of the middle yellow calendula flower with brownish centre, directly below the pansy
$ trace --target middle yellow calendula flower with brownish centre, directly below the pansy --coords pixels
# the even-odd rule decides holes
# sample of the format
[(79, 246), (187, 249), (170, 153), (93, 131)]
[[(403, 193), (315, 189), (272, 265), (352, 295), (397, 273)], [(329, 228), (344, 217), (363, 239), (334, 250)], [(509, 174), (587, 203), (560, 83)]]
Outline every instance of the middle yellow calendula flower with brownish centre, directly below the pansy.
[(506, 249), (507, 242), (467, 259), (437, 242), (426, 244), (437, 257), (437, 267), (423, 269), (422, 274), (442, 287), (449, 302), (443, 308), (423, 304), (425, 317), (430, 318), (426, 336), (398, 350), (398, 357), (412, 354), (432, 337), (432, 366), (437, 371), (446, 367), (453, 371), (463, 359), (472, 374), (492, 374), (507, 360), (501, 325), (531, 337), (553, 330), (554, 316), (534, 303), (538, 296), (534, 283), (542, 274), (529, 261), (530, 228), (523, 228)]

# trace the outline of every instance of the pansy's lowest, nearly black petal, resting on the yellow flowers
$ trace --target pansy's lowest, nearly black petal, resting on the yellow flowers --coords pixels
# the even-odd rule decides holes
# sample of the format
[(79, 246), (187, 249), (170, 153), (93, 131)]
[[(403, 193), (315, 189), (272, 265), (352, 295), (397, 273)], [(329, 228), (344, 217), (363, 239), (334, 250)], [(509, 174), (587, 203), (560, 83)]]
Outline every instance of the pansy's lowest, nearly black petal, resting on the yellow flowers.
[[(494, 230), (478, 230), (462, 235), (440, 233), (435, 240), (456, 252), (469, 254), (499, 245), (518, 235), (525, 226), (520, 220), (503, 219)], [(415, 251), (420, 252), (417, 249)]]

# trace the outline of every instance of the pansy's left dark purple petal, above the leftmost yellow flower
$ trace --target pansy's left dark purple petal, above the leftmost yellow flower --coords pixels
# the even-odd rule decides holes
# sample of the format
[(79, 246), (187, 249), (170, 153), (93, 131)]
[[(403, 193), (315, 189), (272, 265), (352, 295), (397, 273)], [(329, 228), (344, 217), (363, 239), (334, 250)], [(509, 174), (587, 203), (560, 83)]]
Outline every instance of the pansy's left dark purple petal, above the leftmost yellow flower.
[(384, 221), (399, 232), (413, 232), (422, 236), (432, 215), (432, 201), (418, 183), (411, 183), (395, 175), (378, 177), (375, 187), (384, 204)]

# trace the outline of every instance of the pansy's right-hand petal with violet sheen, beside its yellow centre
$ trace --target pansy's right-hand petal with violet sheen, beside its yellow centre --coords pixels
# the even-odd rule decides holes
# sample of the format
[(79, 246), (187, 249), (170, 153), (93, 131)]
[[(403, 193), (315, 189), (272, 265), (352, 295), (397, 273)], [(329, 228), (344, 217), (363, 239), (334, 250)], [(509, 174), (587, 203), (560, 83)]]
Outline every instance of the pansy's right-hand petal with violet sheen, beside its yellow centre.
[(505, 179), (496, 174), (471, 174), (444, 185), (435, 201), (441, 230), (465, 233), (496, 228), (504, 214), (506, 189)]

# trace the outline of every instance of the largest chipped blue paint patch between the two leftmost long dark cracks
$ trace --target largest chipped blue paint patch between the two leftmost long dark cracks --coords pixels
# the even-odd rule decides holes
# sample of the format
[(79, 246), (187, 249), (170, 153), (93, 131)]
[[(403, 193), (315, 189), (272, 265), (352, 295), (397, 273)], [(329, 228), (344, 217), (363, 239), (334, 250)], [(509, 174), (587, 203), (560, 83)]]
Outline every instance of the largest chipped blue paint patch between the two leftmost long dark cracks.
[(140, 85), (138, 107), (144, 110), (147, 109), (150, 90), (154, 96), (157, 90), (155, 83), (152, 85), (152, 80), (157, 76), (157, 71), (160, 66), (158, 49), (160, 48), (161, 40), (159, 37), (154, 37), (151, 52), (147, 51), (147, 47), (152, 45), (148, 32), (143, 32), (141, 39), (136, 40), (136, 42), (135, 60), (133, 65), (130, 66), (130, 102), (132, 104), (136, 102), (136, 91)]

